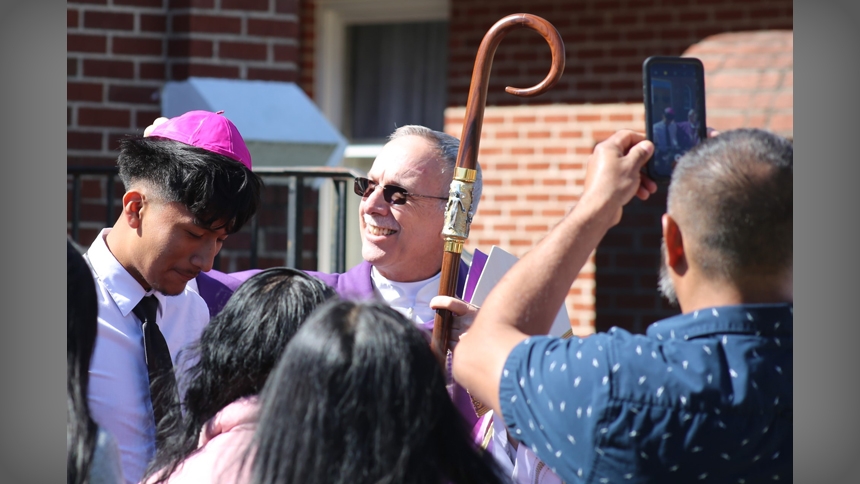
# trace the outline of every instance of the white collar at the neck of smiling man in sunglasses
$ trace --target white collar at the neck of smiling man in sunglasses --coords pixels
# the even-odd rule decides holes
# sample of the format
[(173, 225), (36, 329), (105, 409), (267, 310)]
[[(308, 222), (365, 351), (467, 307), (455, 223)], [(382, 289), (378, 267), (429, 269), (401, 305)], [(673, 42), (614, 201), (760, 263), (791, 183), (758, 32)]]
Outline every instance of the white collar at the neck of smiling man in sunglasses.
[(370, 279), (379, 296), (392, 308), (424, 329), (433, 329), (436, 311), (430, 309), (430, 300), (439, 294), (439, 280), (442, 273), (415, 282), (392, 281), (376, 270), (370, 269)]

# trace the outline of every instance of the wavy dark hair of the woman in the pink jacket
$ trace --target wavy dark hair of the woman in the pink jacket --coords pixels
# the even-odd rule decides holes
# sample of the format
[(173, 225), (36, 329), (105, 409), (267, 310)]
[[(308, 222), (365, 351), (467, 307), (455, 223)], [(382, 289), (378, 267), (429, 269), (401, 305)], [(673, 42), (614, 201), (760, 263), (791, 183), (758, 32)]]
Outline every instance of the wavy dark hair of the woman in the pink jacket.
[(184, 415), (175, 408), (166, 417), (166, 441), (148, 475), (166, 468), (159, 477), (169, 476), (194, 452), (209, 419), (230, 403), (260, 393), (305, 319), (334, 295), (319, 279), (285, 267), (264, 270), (242, 283), (183, 354), (186, 361), (195, 361), (181, 378)]

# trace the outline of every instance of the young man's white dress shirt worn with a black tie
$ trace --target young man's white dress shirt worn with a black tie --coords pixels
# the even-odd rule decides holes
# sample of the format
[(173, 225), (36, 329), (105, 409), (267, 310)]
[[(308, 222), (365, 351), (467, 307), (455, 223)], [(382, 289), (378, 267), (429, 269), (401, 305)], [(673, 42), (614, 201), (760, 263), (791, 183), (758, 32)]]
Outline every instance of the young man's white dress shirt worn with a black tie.
[(144, 296), (155, 295), (156, 322), (176, 365), (179, 350), (196, 341), (209, 322), (209, 309), (198, 294), (196, 280), (191, 280), (178, 296), (145, 291), (111, 254), (105, 243), (109, 231), (102, 230), (86, 254), (99, 305), (88, 400), (93, 420), (105, 427), (119, 445), (125, 481), (135, 484), (155, 454), (155, 421), (143, 332), (132, 310)]

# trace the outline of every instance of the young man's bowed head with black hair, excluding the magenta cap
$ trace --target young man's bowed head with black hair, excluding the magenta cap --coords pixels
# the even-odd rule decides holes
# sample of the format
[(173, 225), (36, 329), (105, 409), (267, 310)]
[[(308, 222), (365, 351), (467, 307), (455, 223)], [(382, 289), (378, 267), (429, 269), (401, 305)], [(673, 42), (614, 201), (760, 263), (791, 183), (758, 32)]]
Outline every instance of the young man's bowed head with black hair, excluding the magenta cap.
[(245, 165), (177, 141), (123, 140), (118, 163), (122, 212), (105, 242), (145, 290), (182, 294), (260, 203)]

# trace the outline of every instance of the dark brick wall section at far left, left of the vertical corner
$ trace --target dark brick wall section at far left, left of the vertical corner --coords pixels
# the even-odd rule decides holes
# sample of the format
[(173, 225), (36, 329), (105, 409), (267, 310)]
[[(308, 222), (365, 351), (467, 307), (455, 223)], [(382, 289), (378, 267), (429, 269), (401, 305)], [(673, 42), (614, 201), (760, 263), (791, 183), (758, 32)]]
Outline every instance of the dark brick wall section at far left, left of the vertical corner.
[(118, 138), (158, 116), (166, 2), (70, 1), (67, 11), (68, 163), (112, 164)]

